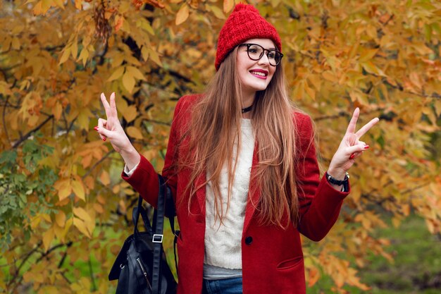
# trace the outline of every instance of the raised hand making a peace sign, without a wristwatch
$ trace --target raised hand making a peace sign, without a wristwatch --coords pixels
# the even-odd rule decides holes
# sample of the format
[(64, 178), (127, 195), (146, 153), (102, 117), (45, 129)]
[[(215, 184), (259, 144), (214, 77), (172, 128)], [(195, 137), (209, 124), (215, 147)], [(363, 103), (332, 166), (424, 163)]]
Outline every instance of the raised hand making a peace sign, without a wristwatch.
[(132, 169), (139, 162), (139, 154), (133, 147), (123, 130), (116, 111), (115, 93), (110, 97), (110, 104), (107, 102), (104, 93), (101, 93), (101, 102), (106, 110), (107, 119), (98, 118), (98, 126), (94, 129), (99, 133), (102, 140), (111, 142), (113, 149), (121, 154), (128, 169)]

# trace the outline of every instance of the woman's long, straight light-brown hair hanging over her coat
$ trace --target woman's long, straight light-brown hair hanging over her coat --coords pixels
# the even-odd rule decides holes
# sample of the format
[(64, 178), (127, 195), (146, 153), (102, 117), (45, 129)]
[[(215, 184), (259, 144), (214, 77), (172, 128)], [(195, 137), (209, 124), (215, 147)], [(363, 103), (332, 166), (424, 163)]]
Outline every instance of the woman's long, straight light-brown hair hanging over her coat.
[[(188, 144), (185, 155), (180, 156), (178, 168), (190, 169), (188, 209), (196, 190), (211, 182), (214, 193), (216, 218), (223, 219), (220, 175), (223, 165), (228, 170), (227, 210), (241, 142), (242, 86), (236, 71), (237, 47), (225, 58), (216, 75), (206, 88), (204, 97), (192, 109), (192, 118), (184, 132)], [(295, 166), (297, 163), (297, 130), (293, 106), (287, 95), (282, 66), (275, 73), (266, 90), (256, 92), (251, 123), (259, 146), (259, 165), (250, 183), (249, 195), (260, 192), (259, 203), (253, 203), (263, 225), (275, 224), (285, 228), (290, 221), (297, 223), (298, 201)], [(235, 145), (235, 141), (238, 144)], [(180, 148), (181, 144), (178, 145)], [(182, 154), (182, 153), (181, 153)], [(201, 173), (209, 171), (205, 183), (194, 186)], [(259, 191), (258, 191), (259, 190)]]

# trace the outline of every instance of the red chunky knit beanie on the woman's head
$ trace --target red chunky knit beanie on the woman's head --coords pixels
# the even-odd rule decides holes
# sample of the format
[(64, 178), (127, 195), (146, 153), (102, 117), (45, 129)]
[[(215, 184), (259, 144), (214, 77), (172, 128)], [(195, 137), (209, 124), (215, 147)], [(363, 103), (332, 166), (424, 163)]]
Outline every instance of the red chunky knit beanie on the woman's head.
[(225, 21), (218, 38), (216, 51), (216, 71), (222, 61), (237, 45), (247, 39), (271, 39), (279, 51), (282, 51), (282, 42), (275, 27), (261, 17), (259, 11), (251, 5), (237, 4), (228, 19)]

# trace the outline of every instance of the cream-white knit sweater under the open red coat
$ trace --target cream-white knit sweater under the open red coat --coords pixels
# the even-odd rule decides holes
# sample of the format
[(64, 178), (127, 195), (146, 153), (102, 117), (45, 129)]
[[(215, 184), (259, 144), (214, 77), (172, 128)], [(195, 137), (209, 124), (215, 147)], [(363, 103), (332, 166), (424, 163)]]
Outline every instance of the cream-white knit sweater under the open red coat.
[[(214, 195), (210, 184), (206, 185), (206, 225), (205, 225), (205, 257), (204, 264), (225, 269), (242, 269), (241, 239), (244, 227), (245, 206), (247, 205), (249, 176), (254, 151), (254, 133), (251, 120), (242, 119), (242, 145), (239, 150), (231, 200), (228, 213), (228, 172), (226, 165), (221, 173), (221, 195), (223, 197), (223, 224), (215, 219)], [(237, 144), (237, 142), (236, 142)], [(235, 148), (233, 161), (235, 160)], [(207, 178), (209, 175), (207, 174)]]

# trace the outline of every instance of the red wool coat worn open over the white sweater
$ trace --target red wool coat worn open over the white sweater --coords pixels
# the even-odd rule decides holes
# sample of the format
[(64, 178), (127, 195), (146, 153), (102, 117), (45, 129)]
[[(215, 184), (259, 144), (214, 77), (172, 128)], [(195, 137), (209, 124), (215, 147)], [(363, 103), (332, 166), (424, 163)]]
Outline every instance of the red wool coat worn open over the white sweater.
[[(189, 109), (199, 95), (182, 97), (176, 105), (164, 168), (173, 160), (173, 148), (178, 134), (190, 118)], [(306, 293), (304, 261), (299, 233), (318, 241), (328, 233), (337, 220), (344, 197), (349, 192), (335, 190), (323, 177), (320, 179), (315, 147), (309, 147), (313, 135), (311, 119), (305, 114), (295, 114), (299, 130), (298, 145), (302, 150), (297, 168), (297, 177), (302, 182), (299, 193), (299, 226), (292, 223), (287, 229), (278, 226), (259, 226), (255, 208), (249, 201), (246, 207), (244, 228), (242, 231), (242, 283), (244, 294), (301, 294)], [(308, 148), (309, 147), (309, 148)], [(306, 151), (305, 151), (306, 150)], [(258, 164), (256, 148), (254, 149), (251, 173)], [(190, 178), (190, 172), (183, 170), (177, 176), (163, 173), (168, 178), (168, 185), (173, 197), (184, 197), (183, 191)], [(149, 202), (156, 205), (159, 184), (154, 167), (141, 157), (138, 168), (123, 178)], [(252, 177), (251, 177), (252, 178)], [(205, 180), (200, 176), (198, 183)], [(250, 183), (255, 185), (255, 183)], [(256, 203), (259, 192), (249, 195)], [(185, 197), (188, 199), (188, 197)], [(177, 208), (180, 226), (178, 238), (178, 294), (199, 294), (202, 289), (204, 267), (204, 234), (205, 234), (205, 187), (197, 190), (197, 201), (193, 201), (188, 212), (187, 202)]]

